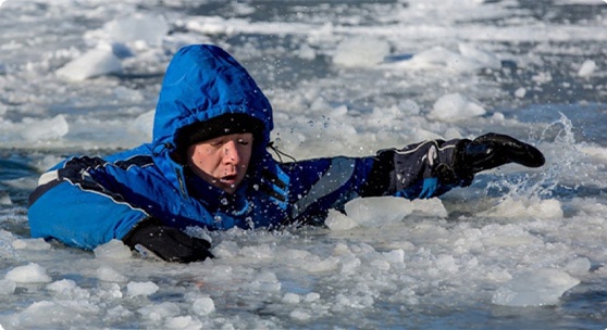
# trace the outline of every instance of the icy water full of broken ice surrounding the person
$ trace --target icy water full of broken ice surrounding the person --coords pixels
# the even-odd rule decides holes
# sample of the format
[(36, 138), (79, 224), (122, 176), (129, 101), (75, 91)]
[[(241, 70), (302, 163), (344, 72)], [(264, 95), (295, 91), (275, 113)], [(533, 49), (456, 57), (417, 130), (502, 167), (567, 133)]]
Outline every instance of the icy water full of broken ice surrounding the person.
[[(607, 328), (606, 18), (599, 0), (0, 0), (0, 328)], [(39, 174), (148, 141), (168, 61), (198, 42), (250, 71), (298, 160), (499, 131), (547, 164), (326, 228), (212, 232), (218, 258), (191, 265), (30, 239)]]

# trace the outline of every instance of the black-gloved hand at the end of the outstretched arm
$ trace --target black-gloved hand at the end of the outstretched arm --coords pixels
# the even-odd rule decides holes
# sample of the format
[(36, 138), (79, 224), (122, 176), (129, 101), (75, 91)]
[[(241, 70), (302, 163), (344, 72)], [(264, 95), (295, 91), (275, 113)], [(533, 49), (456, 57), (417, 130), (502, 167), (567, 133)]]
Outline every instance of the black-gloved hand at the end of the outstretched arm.
[(545, 162), (544, 155), (535, 147), (506, 135), (490, 132), (472, 141), (461, 140), (457, 144), (454, 170), (464, 177), (508, 163), (540, 167)]

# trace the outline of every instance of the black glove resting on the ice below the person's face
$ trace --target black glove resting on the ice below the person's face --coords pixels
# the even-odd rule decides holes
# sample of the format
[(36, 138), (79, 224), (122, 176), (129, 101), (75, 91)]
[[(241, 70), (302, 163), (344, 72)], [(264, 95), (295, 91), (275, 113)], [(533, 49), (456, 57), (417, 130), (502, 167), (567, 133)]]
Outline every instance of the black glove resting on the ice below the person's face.
[[(145, 256), (157, 256), (172, 263), (201, 262), (213, 257), (209, 252), (211, 243), (163, 225), (154, 218), (137, 224), (122, 241)], [(152, 255), (147, 255), (149, 253)]]

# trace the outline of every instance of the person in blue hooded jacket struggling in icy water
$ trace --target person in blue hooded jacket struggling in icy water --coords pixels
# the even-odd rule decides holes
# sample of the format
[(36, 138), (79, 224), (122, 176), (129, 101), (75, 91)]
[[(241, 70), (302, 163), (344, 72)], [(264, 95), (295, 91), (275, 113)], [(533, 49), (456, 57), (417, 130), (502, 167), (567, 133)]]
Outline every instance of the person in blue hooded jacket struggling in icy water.
[(272, 106), (247, 71), (211, 45), (182, 48), (166, 69), (153, 138), (106, 157), (70, 157), (29, 198), (34, 238), (86, 250), (122, 240), (143, 254), (189, 263), (212, 257), (191, 237), (209, 230), (322, 224), (364, 196), (429, 199), (507, 163), (543, 154), (506, 135), (432, 140), (364, 157), (282, 163), (269, 153)]

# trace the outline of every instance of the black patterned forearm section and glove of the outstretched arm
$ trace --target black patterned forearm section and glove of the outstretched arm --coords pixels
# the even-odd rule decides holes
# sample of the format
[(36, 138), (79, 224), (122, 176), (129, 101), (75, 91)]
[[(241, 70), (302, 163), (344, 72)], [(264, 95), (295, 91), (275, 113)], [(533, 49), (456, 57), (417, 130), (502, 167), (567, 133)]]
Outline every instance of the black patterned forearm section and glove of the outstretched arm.
[(438, 178), (444, 185), (467, 187), (476, 173), (507, 163), (540, 167), (545, 160), (534, 147), (493, 132), (474, 140), (433, 140), (400, 150), (380, 150), (361, 195), (393, 194), (426, 178)]

